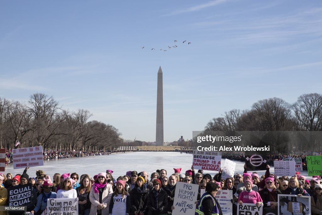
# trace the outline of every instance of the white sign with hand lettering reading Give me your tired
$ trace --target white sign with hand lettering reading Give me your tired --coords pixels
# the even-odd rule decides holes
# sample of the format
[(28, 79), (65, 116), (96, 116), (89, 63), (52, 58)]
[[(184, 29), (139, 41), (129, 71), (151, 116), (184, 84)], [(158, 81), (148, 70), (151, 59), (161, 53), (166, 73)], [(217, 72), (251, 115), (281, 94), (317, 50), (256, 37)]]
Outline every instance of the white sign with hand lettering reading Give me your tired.
[(48, 199), (47, 213), (78, 215), (78, 198)]

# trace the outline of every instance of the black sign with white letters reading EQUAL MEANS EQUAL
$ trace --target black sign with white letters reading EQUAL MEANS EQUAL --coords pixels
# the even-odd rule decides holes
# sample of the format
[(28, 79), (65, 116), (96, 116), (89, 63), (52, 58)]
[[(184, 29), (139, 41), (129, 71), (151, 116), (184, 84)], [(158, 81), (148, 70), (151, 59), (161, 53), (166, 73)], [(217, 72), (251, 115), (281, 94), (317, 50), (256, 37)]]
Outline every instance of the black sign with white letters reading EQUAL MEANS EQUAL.
[(9, 187), (8, 190), (8, 206), (27, 206), (31, 203), (32, 185), (24, 184), (15, 187)]

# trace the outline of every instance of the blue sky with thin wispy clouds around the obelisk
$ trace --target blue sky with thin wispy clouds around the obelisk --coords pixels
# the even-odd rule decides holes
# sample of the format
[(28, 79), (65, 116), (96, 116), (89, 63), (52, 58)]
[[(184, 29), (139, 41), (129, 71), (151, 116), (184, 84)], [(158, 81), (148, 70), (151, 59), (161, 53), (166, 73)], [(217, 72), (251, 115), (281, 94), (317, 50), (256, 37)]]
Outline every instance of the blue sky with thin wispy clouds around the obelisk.
[(320, 0), (1, 1), (0, 20), (0, 97), (48, 94), (124, 139), (155, 141), (159, 66), (169, 142), (258, 100), (322, 92)]

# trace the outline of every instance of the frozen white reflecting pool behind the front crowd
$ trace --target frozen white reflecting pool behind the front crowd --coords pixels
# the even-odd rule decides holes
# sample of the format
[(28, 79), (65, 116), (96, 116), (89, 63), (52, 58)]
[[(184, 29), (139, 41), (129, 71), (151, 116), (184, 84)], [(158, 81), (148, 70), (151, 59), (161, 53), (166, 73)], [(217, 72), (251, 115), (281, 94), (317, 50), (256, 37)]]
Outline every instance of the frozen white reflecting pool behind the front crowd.
[[(44, 170), (50, 177), (54, 173), (77, 172), (81, 174), (89, 174), (94, 176), (99, 172), (105, 172), (107, 169), (113, 170), (113, 176), (117, 178), (120, 175), (125, 175), (127, 171), (147, 171), (149, 174), (157, 169), (165, 169), (170, 175), (174, 173), (173, 168), (182, 168), (181, 172), (185, 173), (192, 165), (192, 154), (180, 154), (180, 152), (128, 152), (111, 155), (90, 156), (83, 158), (70, 158), (62, 160), (45, 161), (44, 166), (31, 167), (28, 170), (30, 177), (36, 175), (37, 170)], [(222, 159), (222, 165), (225, 159)], [(236, 162), (235, 173), (244, 171), (244, 163)], [(24, 169), (13, 169), (13, 165), (5, 167), (5, 173), (22, 174)], [(265, 174), (265, 171), (257, 171), (259, 175)], [(270, 172), (274, 172), (274, 168), (270, 168)], [(204, 171), (214, 176), (218, 172)], [(307, 176), (307, 171), (302, 171), (302, 175)]]

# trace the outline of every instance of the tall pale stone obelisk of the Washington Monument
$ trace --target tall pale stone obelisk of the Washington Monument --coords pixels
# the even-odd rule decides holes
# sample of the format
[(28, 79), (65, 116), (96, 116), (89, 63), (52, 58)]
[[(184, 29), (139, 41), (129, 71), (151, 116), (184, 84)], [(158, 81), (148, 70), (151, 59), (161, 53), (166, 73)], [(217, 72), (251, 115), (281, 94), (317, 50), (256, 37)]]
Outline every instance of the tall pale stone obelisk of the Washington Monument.
[(161, 66), (158, 71), (156, 92), (156, 145), (163, 146), (163, 80)]

